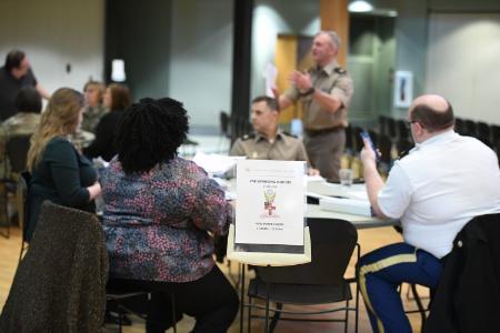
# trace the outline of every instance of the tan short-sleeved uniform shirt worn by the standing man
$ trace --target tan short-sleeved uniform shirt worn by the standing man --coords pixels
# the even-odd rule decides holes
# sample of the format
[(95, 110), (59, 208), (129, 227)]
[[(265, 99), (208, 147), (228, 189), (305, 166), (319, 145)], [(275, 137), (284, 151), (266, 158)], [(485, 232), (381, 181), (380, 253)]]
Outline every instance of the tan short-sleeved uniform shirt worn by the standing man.
[(328, 112), (320, 103), (312, 99), (312, 94), (301, 97), (297, 87), (290, 87), (284, 95), (296, 102), (300, 99), (303, 105), (302, 122), (306, 130), (323, 130), (348, 125), (347, 111), (354, 91), (352, 79), (339, 67), (337, 61), (330, 62), (322, 69), (311, 68), (312, 87), (340, 99), (342, 107), (334, 113)]

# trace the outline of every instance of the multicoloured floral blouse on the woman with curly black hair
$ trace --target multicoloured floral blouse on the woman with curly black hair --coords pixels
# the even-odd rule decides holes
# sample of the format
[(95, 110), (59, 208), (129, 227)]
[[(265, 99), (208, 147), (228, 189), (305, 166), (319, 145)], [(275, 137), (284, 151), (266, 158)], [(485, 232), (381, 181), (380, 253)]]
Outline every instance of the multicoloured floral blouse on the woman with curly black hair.
[(147, 173), (124, 174), (114, 158), (100, 183), (112, 278), (189, 282), (211, 271), (209, 232), (226, 234), (232, 209), (200, 167), (174, 158)]

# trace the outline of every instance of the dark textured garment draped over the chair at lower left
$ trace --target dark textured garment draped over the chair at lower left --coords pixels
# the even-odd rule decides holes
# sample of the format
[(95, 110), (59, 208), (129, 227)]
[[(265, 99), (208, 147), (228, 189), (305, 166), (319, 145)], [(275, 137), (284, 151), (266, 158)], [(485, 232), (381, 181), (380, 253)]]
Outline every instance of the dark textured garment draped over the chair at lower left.
[(100, 332), (108, 254), (97, 215), (43, 202), (0, 332)]

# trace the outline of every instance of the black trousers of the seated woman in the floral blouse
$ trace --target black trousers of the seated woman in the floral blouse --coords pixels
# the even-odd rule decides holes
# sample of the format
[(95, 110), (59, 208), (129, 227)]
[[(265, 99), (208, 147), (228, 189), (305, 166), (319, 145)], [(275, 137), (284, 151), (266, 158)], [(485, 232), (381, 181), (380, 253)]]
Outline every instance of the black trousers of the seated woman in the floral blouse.
[(151, 292), (146, 329), (148, 333), (164, 332), (173, 324), (171, 295), (178, 321), (182, 313), (193, 316), (192, 332), (226, 332), (238, 313), (238, 294), (217, 265), (197, 281), (173, 283), (114, 279), (109, 282), (120, 290), (142, 289)]

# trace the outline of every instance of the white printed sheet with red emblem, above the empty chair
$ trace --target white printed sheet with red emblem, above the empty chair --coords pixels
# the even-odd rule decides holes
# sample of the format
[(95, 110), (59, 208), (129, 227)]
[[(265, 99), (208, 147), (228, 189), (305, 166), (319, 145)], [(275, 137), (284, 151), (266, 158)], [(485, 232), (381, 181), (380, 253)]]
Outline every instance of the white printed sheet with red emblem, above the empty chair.
[(304, 162), (237, 164), (236, 243), (303, 245)]

